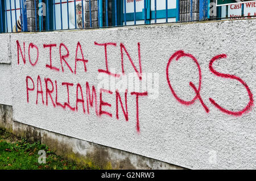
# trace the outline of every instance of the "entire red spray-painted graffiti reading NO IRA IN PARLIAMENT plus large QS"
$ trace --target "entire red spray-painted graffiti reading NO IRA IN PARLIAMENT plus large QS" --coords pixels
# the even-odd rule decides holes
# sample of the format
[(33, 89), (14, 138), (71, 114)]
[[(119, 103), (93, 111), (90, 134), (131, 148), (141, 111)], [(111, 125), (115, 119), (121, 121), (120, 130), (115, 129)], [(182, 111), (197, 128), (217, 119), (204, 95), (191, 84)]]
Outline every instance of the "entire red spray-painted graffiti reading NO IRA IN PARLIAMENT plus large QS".
[[(17, 56), (18, 56), (18, 65), (20, 64), (20, 57), (23, 60), (22, 65), (20, 66), (32, 66), (33, 68), (36, 67), (35, 65), (38, 64), (39, 61), (39, 48), (38, 46), (36, 46), (33, 43), (30, 43), (29, 46), (27, 47), (28, 49), (28, 58), (29, 58), (29, 62), (30, 64), (26, 64), (26, 47), (25, 47), (25, 43), (23, 42), (23, 49), (20, 46), (19, 41), (16, 41), (16, 45), (17, 45)], [(94, 45), (97, 46), (102, 46), (104, 47), (104, 53), (105, 53), (105, 65), (106, 65), (106, 69), (98, 69), (98, 72), (100, 73), (105, 73), (107, 75), (113, 76), (113, 77), (121, 77), (121, 74), (115, 74), (109, 71), (109, 65), (108, 65), (108, 52), (107, 52), (107, 47), (109, 45), (112, 45), (113, 47), (117, 47), (117, 43), (97, 43), (96, 41), (94, 42)], [(138, 65), (139, 67), (137, 68), (135, 66), (135, 63), (133, 61), (133, 59), (131, 58), (129, 52), (127, 51), (125, 45), (123, 43), (120, 43), (120, 50), (121, 50), (121, 57), (120, 57), (120, 64), (121, 64), (121, 68), (122, 68), (122, 74), (125, 74), (125, 66), (124, 66), (124, 53), (126, 54), (126, 58), (128, 58), (128, 60), (130, 61), (131, 66), (133, 67), (135, 73), (137, 73), (137, 76), (140, 80), (142, 80), (142, 64), (141, 64), (141, 44), (138, 43)], [(57, 71), (59, 72), (59, 68), (53, 66), (53, 60), (52, 60), (52, 49), (56, 48), (57, 44), (43, 44), (43, 48), (49, 48), (49, 64), (46, 64), (46, 68), (53, 70), (53, 71)], [(31, 61), (31, 50), (34, 49), (36, 50), (36, 59), (34, 61)], [(63, 50), (65, 49), (65, 53), (63, 53)], [(80, 50), (80, 53), (79, 53)], [(33, 51), (35, 52), (35, 51)], [(59, 45), (59, 55), (60, 55), (60, 59), (58, 61), (60, 61), (60, 65), (61, 65), (61, 70), (62, 72), (64, 72), (64, 64), (67, 66), (67, 68), (71, 71), (71, 73), (74, 73), (73, 76), (76, 75), (77, 73), (77, 66), (78, 65), (83, 65), (83, 69), (84, 69), (84, 73), (89, 73), (88, 69), (86, 68), (86, 64), (89, 63), (89, 60), (85, 60), (84, 57), (84, 53), (82, 52), (82, 47), (80, 42), (77, 42), (77, 46), (76, 46), (76, 55), (75, 55), (75, 68), (74, 71), (72, 70), (71, 66), (70, 66), (70, 60), (71, 60), (71, 54), (69, 54), (69, 49), (68, 47), (64, 44), (64, 43), (60, 43)], [(78, 58), (80, 57), (80, 58)], [(191, 89), (193, 89), (193, 91), (195, 91), (195, 96), (191, 99), (191, 100), (184, 100), (182, 98), (180, 98), (179, 96), (177, 96), (176, 92), (173, 89), (173, 85), (172, 85), (172, 78), (169, 74), (169, 68), (171, 66), (171, 62), (173, 60), (178, 61), (180, 58), (182, 57), (188, 57), (191, 58), (191, 60), (193, 60), (193, 64), (196, 64), (197, 69), (198, 69), (198, 73), (199, 73), (199, 85), (195, 86), (195, 84), (193, 82), (189, 82), (189, 86), (191, 86)], [(243, 113), (249, 112), (251, 110), (251, 108), (253, 107), (253, 94), (251, 92), (251, 90), (249, 89), (249, 86), (247, 86), (247, 84), (239, 77), (236, 77), (235, 75), (230, 75), (230, 74), (223, 74), (223, 73), (219, 73), (218, 71), (216, 71), (215, 69), (213, 69), (213, 62), (217, 61), (221, 58), (226, 58), (226, 54), (220, 54), (218, 56), (215, 56), (212, 58), (212, 60), (210, 60), (209, 62), (209, 70), (216, 76), (218, 77), (222, 77), (222, 78), (229, 78), (229, 79), (235, 79), (238, 82), (240, 82), (245, 89), (247, 90), (248, 96), (249, 96), (249, 103), (247, 103), (247, 106), (245, 108), (243, 108), (241, 111), (229, 111), (226, 110), (225, 108), (221, 107), (219, 104), (216, 103), (215, 100), (213, 100), (213, 98), (209, 98), (210, 103), (213, 104), (214, 107), (216, 107), (218, 110), (220, 110), (221, 112), (227, 113), (228, 115), (234, 115), (234, 116), (241, 116), (243, 115)], [(68, 64), (69, 62), (69, 64)], [(82, 64), (77, 64), (78, 62), (82, 62)], [(56, 62), (55, 62), (56, 63)], [(125, 119), (126, 121), (129, 121), (129, 105), (127, 105), (127, 95), (128, 95), (128, 91), (126, 90), (124, 95), (121, 96), (119, 90), (115, 90), (115, 92), (112, 92), (110, 90), (106, 90), (106, 89), (101, 89), (99, 95), (97, 95), (97, 91), (95, 89), (94, 85), (89, 85), (89, 82), (85, 82), (85, 83), (73, 83), (73, 82), (61, 82), (61, 83), (57, 83), (57, 81), (52, 81), (51, 78), (44, 78), (44, 88), (43, 89), (43, 84), (41, 81), (41, 77), (40, 75), (38, 75), (37, 77), (37, 81), (36, 82), (36, 104), (38, 104), (38, 97), (39, 94), (41, 94), (42, 97), (42, 104), (44, 105), (44, 96), (45, 96), (45, 100), (46, 100), (46, 106), (49, 106), (48, 104), (48, 99), (51, 99), (52, 102), (52, 106), (53, 108), (55, 107), (61, 107), (63, 109), (65, 108), (69, 108), (69, 110), (71, 111), (79, 111), (79, 106), (82, 106), (82, 112), (85, 114), (86, 113), (86, 108), (85, 108), (85, 103), (86, 103), (86, 107), (87, 107), (87, 114), (90, 114), (89, 111), (89, 107), (93, 108), (95, 107), (95, 115), (98, 117), (103, 117), (103, 116), (109, 116), (109, 117), (114, 117), (113, 113), (115, 113), (115, 118), (117, 120), (119, 119)], [(207, 107), (207, 105), (205, 104), (203, 98), (200, 95), (200, 91), (201, 91), (201, 80), (202, 80), (202, 73), (201, 73), (201, 68), (200, 68), (200, 64), (197, 61), (197, 59), (189, 53), (185, 53), (183, 50), (178, 50), (177, 52), (175, 52), (174, 54), (172, 54), (172, 56), (170, 57), (170, 59), (167, 62), (167, 66), (166, 66), (166, 78), (167, 78), (167, 83), (168, 86), (171, 90), (172, 95), (174, 96), (174, 98), (177, 100), (177, 102), (179, 102), (180, 104), (184, 104), (186, 106), (192, 105), (194, 103), (196, 103), (196, 100), (198, 99), (199, 102), (201, 103), (201, 105), (203, 106), (205, 112), (209, 112), (209, 108)], [(35, 91), (35, 82), (34, 79), (30, 76), (26, 77), (26, 94), (27, 94), (27, 103), (31, 103), (31, 99), (33, 94), (32, 92)], [(54, 84), (53, 84), (54, 82)], [(74, 86), (76, 85), (76, 86)], [(65, 94), (67, 95), (67, 100), (65, 100), (64, 103), (60, 103), (58, 101), (58, 87), (57, 86), (64, 86), (65, 87)], [(76, 89), (75, 91), (72, 91), (73, 89)], [(90, 88), (91, 87), (91, 88)], [(83, 90), (86, 90), (86, 101), (85, 101), (85, 92), (83, 93)], [(73, 93), (73, 94), (72, 94)], [(113, 95), (115, 94), (115, 95)], [(76, 95), (75, 98), (73, 98), (73, 96), (71, 95)], [(135, 95), (132, 96), (133, 100), (135, 102), (135, 104), (132, 106), (132, 108), (136, 108), (136, 130), (138, 133), (141, 132), (141, 128), (140, 128), (140, 122), (139, 122), (139, 98), (141, 96), (147, 96), (148, 92), (131, 92), (131, 95)], [(53, 96), (55, 96), (55, 100), (53, 99)], [(97, 99), (97, 96), (99, 99)], [(104, 101), (104, 97), (105, 96), (110, 96), (112, 99), (115, 99), (115, 107), (112, 106), (111, 103)], [(72, 100), (74, 99), (74, 100)], [(140, 98), (141, 100), (143, 100), (142, 98)], [(98, 102), (99, 102), (99, 106), (98, 106)], [(71, 105), (73, 104), (73, 105)], [(119, 107), (121, 107), (122, 109), (122, 115), (119, 114)], [(115, 109), (115, 110), (113, 110)]]

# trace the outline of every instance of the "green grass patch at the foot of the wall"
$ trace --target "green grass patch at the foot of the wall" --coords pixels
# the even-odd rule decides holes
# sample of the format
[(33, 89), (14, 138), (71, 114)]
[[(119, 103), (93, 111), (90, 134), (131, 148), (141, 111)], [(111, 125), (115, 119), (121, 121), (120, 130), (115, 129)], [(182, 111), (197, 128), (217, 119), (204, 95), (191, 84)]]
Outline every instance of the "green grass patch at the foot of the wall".
[[(39, 163), (39, 150), (46, 151), (46, 163)], [(0, 129), (0, 170), (74, 170), (90, 169), (67, 161), (48, 149), (40, 142), (29, 142)]]

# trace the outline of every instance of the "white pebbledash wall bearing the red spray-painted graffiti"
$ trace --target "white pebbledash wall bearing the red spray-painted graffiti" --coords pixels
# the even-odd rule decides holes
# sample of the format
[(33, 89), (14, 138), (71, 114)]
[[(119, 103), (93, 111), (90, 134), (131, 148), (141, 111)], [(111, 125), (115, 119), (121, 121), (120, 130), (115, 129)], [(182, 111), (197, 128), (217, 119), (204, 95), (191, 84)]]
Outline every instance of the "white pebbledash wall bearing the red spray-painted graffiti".
[(255, 169), (256, 20), (0, 39), (0, 103), (15, 121), (189, 169)]

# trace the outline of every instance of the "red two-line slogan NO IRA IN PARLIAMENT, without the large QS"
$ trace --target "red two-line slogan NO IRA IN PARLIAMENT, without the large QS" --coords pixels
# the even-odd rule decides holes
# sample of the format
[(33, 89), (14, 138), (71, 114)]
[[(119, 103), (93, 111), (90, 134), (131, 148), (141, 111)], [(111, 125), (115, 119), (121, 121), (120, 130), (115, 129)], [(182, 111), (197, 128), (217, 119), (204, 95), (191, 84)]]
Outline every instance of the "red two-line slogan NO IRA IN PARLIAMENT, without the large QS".
[[(20, 61), (20, 55), (22, 57), (22, 60), (24, 62), (24, 65), (26, 65), (26, 47), (25, 47), (25, 43), (23, 43), (23, 50), (22, 48), (20, 47), (20, 44), (19, 44), (19, 41), (17, 40), (16, 41), (16, 44), (17, 44), (17, 51), (18, 51), (18, 65), (19, 65), (19, 61)], [(103, 46), (104, 47), (104, 51), (105, 51), (105, 64), (106, 64), (106, 69), (103, 70), (103, 69), (98, 69), (98, 72), (100, 73), (106, 73), (110, 76), (114, 76), (114, 77), (121, 77), (121, 74), (114, 74), (114, 73), (111, 73), (109, 71), (109, 67), (108, 67), (108, 52), (107, 52), (107, 47), (109, 45), (113, 45), (114, 47), (117, 46), (117, 43), (102, 43), (102, 44), (99, 44), (99, 43), (96, 43), (94, 42), (95, 45), (98, 45), (98, 46)], [(49, 49), (49, 64), (46, 64), (46, 68), (47, 69), (50, 69), (50, 70), (54, 70), (54, 71), (57, 71), (59, 72), (60, 69), (57, 68), (56, 66), (53, 66), (54, 62), (52, 60), (52, 50), (53, 48), (56, 48), (57, 47), (57, 44), (43, 44), (43, 48), (48, 48)], [(36, 60), (35, 61), (31, 61), (31, 49), (36, 49)], [(79, 52), (80, 50), (80, 52)], [(121, 61), (120, 61), (120, 64), (121, 64), (121, 67), (122, 67), (122, 73), (125, 74), (125, 66), (124, 66), (124, 56), (123, 56), (123, 52), (125, 52), (126, 56), (128, 57), (130, 63), (131, 63), (131, 66), (133, 66), (134, 68), (134, 71), (137, 73), (138, 75), (138, 78), (141, 80), (142, 79), (142, 65), (141, 65), (141, 45), (140, 43), (138, 43), (138, 61), (139, 61), (139, 68), (137, 68), (135, 66), (135, 63), (134, 61), (132, 60), (128, 50), (126, 49), (125, 45), (123, 43), (120, 43), (120, 50), (121, 50)], [(60, 54), (60, 65), (61, 65), (61, 70), (62, 72), (64, 72), (64, 64), (67, 66), (67, 68), (71, 71), (71, 73), (74, 73), (76, 74), (77, 73), (77, 62), (82, 62), (83, 65), (84, 65), (84, 72), (86, 73), (88, 70), (86, 68), (86, 64), (89, 62), (88, 60), (85, 60), (84, 58), (84, 53), (82, 52), (82, 47), (81, 47), (81, 44), (80, 42), (77, 43), (77, 47), (76, 47), (76, 56), (75, 56), (75, 68), (74, 68), (74, 71), (72, 70), (70, 64), (68, 63), (69, 60), (70, 60), (70, 57), (71, 57), (71, 54), (69, 54), (69, 49), (68, 47), (64, 44), (64, 43), (60, 43), (59, 45), (59, 54)], [(80, 56), (80, 58), (78, 58)], [(29, 61), (30, 61), (30, 64), (31, 66), (35, 66), (38, 61), (39, 61), (39, 48), (33, 44), (33, 43), (30, 43), (29, 44), (29, 47), (28, 47), (28, 58), (29, 58)], [(56, 63), (56, 62), (55, 62)], [(67, 94), (67, 100), (64, 102), (64, 103), (60, 103), (59, 100), (58, 100), (58, 92), (59, 92), (59, 89), (58, 89), (58, 86), (65, 86), (66, 88), (66, 93)], [(57, 81), (52, 81), (51, 78), (44, 78), (44, 87), (45, 89), (43, 89), (43, 84), (42, 84), (42, 81), (41, 81), (41, 77), (40, 75), (38, 75), (37, 77), (37, 82), (36, 82), (36, 104), (38, 104), (38, 98), (39, 98), (39, 94), (41, 95), (42, 97), (42, 104), (44, 104), (44, 96), (46, 98), (46, 106), (49, 106), (49, 101), (52, 102), (52, 106), (53, 108), (55, 107), (61, 107), (63, 109), (65, 108), (69, 108), (69, 110), (71, 111), (78, 111), (79, 110), (79, 104), (82, 104), (82, 111), (84, 113), (86, 113), (86, 110), (85, 110), (85, 103), (86, 103), (86, 106), (87, 106), (87, 113), (89, 114), (89, 107), (93, 107), (95, 106), (95, 113), (96, 113), (96, 116), (103, 116), (103, 115), (106, 115), (106, 116), (109, 116), (109, 117), (112, 117), (113, 113), (111, 111), (111, 108), (112, 108), (112, 104), (104, 101), (104, 96), (112, 96), (113, 92), (110, 91), (110, 90), (105, 90), (105, 89), (101, 89), (100, 90), (100, 104), (98, 106), (98, 102), (97, 102), (97, 92), (96, 92), (96, 89), (95, 89), (95, 86), (92, 85), (91, 89), (90, 89), (90, 86), (89, 86), (89, 83), (86, 82), (85, 84), (80, 84), (80, 83), (77, 83), (76, 84), (76, 100), (75, 100), (75, 105), (71, 105), (72, 102), (74, 101), (71, 101), (71, 96), (70, 94), (72, 94), (71, 92), (71, 88), (75, 85), (74, 83), (72, 82), (62, 82), (61, 84), (58, 84)], [(84, 94), (83, 94), (83, 89), (82, 87), (85, 86), (85, 89), (86, 89), (86, 101), (85, 101), (85, 98), (84, 98)], [(34, 91), (35, 90), (35, 83), (34, 83), (34, 80), (32, 77), (30, 76), (27, 76), (26, 77), (26, 89), (27, 89), (27, 102), (30, 103), (30, 97), (32, 96), (32, 94), (30, 94), (30, 92)], [(85, 90), (84, 89), (84, 90)], [(105, 93), (105, 94), (103, 94)], [(113, 98), (115, 98), (115, 103), (116, 103), (116, 106), (113, 107), (115, 108), (115, 114), (116, 114), (116, 119), (119, 120), (121, 117), (119, 115), (119, 112), (118, 112), (118, 103), (119, 103), (119, 106), (121, 106), (122, 108), (122, 112), (123, 112), (123, 117), (122, 119), (125, 119), (126, 121), (129, 121), (129, 117), (128, 117), (128, 112), (129, 112), (129, 106), (127, 105), (127, 95), (128, 95), (128, 92), (126, 90), (126, 92), (124, 93), (124, 98), (125, 100), (122, 100), (121, 97), (121, 94), (118, 90), (116, 90), (115, 92), (115, 96)], [(147, 92), (131, 92), (131, 95), (135, 95), (135, 106), (136, 107), (132, 107), (132, 108), (136, 108), (136, 129), (137, 129), (137, 132), (139, 133), (140, 132), (140, 127), (139, 127), (139, 96), (146, 96), (147, 95)], [(54, 99), (54, 96), (55, 96), (55, 99)], [(94, 104), (94, 105), (93, 105)], [(105, 109), (104, 109), (105, 107)], [(108, 109), (109, 107), (109, 109)], [(106, 110), (108, 109), (108, 111)]]

